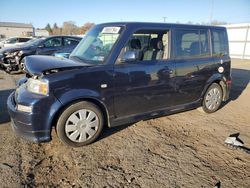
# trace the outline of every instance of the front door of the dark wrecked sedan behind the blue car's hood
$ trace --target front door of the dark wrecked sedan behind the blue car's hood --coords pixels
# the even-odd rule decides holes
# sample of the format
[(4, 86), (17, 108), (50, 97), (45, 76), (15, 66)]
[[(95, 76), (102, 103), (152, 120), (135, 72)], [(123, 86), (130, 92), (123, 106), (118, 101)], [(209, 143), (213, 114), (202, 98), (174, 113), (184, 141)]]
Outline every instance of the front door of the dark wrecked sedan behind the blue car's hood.
[(36, 54), (53, 55), (55, 52), (63, 48), (62, 37), (52, 37), (45, 40), (37, 48)]

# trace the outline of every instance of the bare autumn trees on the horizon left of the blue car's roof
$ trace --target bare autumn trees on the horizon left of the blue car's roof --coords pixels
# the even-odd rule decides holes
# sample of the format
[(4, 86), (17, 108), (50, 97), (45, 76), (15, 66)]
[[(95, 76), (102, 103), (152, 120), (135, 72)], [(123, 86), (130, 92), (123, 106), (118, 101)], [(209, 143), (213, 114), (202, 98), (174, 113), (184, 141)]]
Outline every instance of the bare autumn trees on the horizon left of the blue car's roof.
[(94, 25), (94, 23), (87, 22), (79, 27), (73, 21), (65, 21), (62, 27), (59, 27), (57, 23), (54, 23), (53, 26), (48, 23), (44, 29), (46, 29), (50, 35), (83, 35)]

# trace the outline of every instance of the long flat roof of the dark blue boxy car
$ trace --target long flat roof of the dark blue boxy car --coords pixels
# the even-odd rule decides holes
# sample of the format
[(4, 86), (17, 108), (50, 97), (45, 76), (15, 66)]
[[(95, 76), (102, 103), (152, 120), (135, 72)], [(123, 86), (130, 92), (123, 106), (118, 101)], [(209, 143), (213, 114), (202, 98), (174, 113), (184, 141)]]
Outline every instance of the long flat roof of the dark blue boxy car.
[(223, 26), (212, 25), (194, 25), (194, 24), (177, 24), (177, 23), (157, 23), (157, 22), (108, 22), (98, 24), (101, 26), (132, 26), (132, 27), (169, 27), (169, 28), (215, 28), (225, 29)]

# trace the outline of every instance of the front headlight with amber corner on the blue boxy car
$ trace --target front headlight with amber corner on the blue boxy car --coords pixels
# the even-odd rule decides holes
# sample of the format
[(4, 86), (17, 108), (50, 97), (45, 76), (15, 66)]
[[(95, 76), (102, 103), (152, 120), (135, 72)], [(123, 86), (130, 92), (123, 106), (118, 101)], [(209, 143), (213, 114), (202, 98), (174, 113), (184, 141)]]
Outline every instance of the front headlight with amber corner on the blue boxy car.
[(49, 93), (49, 83), (45, 80), (30, 78), (27, 81), (27, 90), (32, 93), (47, 95)]

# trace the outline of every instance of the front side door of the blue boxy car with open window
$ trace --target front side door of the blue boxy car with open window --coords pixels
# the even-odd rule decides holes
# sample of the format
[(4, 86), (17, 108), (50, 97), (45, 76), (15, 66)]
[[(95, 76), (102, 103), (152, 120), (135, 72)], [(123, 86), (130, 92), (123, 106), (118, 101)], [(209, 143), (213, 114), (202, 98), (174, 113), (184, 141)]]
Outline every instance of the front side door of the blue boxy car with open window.
[[(126, 53), (126, 49), (133, 48), (128, 47), (133, 40), (139, 39), (142, 43), (141, 47), (138, 47), (139, 53), (143, 53), (142, 56), (145, 57), (146, 51), (143, 52), (143, 49), (146, 46), (143, 44), (143, 38), (132, 36), (119, 57)], [(118, 58), (114, 66), (114, 109), (118, 118), (174, 105), (174, 61), (167, 58), (145, 60), (143, 57), (132, 62), (119, 62)]]

